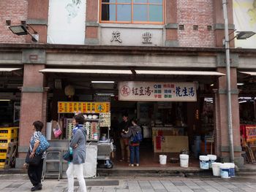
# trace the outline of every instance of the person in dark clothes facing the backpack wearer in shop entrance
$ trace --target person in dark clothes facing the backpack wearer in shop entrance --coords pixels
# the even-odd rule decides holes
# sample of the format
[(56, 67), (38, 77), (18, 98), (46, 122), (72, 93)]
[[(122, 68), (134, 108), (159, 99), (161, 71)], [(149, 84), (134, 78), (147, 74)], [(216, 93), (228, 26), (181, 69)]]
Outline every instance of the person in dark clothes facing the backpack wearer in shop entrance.
[(125, 157), (127, 158), (127, 162), (129, 162), (129, 138), (121, 137), (121, 134), (126, 134), (129, 126), (132, 126), (128, 119), (128, 114), (124, 113), (123, 121), (119, 125), (118, 135), (120, 137), (120, 145), (121, 145), (121, 159), (119, 161), (124, 161)]

